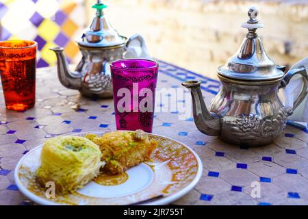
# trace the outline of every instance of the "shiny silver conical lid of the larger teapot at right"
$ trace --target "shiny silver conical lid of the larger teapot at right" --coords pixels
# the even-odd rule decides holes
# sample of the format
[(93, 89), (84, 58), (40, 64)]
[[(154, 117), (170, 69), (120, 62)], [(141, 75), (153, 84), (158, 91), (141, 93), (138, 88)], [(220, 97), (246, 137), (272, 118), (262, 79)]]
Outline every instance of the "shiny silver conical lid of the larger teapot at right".
[(242, 23), (242, 27), (248, 29), (248, 34), (237, 53), (218, 68), (218, 74), (222, 77), (246, 81), (270, 81), (283, 77), (283, 68), (276, 66), (268, 57), (256, 33), (257, 28), (264, 27), (257, 20), (258, 14), (255, 7), (248, 10), (249, 20)]

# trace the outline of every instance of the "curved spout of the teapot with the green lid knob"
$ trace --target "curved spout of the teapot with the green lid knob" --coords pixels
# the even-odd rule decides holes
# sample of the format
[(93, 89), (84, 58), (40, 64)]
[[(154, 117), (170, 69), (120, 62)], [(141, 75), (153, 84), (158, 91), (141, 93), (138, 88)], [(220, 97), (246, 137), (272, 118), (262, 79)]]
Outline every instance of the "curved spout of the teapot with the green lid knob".
[(70, 72), (68, 64), (64, 56), (62, 47), (54, 47), (50, 49), (57, 56), (57, 75), (60, 82), (66, 88), (79, 90), (81, 88), (81, 74), (78, 72)]

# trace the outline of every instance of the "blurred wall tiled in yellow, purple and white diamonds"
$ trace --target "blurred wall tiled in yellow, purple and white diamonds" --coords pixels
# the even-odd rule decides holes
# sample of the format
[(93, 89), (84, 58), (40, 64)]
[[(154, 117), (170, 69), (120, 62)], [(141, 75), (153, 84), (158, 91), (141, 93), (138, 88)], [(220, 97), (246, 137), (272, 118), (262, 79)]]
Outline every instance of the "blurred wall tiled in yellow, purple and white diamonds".
[(38, 67), (53, 66), (50, 47), (64, 47), (69, 62), (77, 61), (75, 40), (86, 27), (84, 0), (1, 0), (0, 40), (38, 42)]

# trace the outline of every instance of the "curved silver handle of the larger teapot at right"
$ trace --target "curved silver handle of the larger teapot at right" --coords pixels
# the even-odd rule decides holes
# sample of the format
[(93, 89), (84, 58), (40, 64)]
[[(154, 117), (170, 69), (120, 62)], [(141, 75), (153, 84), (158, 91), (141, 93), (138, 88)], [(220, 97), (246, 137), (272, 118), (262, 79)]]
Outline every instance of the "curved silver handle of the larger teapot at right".
[[(308, 60), (308, 57), (306, 58), (306, 60)], [(300, 92), (300, 94), (298, 95), (298, 97), (296, 98), (296, 100), (294, 101), (292, 109), (287, 111), (287, 116), (291, 116), (293, 114), (294, 110), (296, 110), (298, 105), (300, 105), (300, 103), (302, 103), (304, 101), (304, 99), (306, 98), (306, 96), (308, 94), (308, 90), (307, 90), (308, 73), (307, 73), (305, 66), (303, 66), (303, 65), (300, 66), (300, 67), (299, 66), (293, 66), (292, 69), (289, 70), (285, 74), (285, 76), (283, 77), (283, 80), (281, 81), (281, 86), (279, 86), (279, 89), (287, 87), (287, 85), (290, 83), (290, 80), (295, 75), (301, 75), (302, 76), (303, 89)]]

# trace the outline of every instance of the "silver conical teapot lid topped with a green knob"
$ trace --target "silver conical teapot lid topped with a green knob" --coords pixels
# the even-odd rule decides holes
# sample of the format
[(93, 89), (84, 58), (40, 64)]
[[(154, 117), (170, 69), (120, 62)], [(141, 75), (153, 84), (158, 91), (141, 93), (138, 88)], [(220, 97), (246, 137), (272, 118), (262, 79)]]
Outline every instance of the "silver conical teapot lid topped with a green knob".
[(127, 38), (118, 34), (103, 12), (107, 5), (98, 0), (92, 8), (97, 10), (97, 14), (90, 27), (86, 29), (86, 33), (77, 43), (84, 47), (114, 47), (124, 44)]

